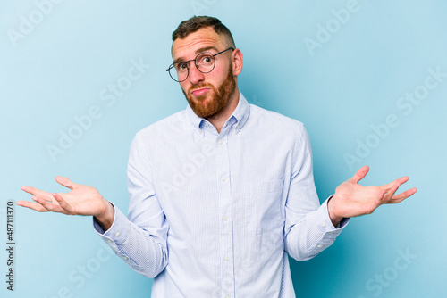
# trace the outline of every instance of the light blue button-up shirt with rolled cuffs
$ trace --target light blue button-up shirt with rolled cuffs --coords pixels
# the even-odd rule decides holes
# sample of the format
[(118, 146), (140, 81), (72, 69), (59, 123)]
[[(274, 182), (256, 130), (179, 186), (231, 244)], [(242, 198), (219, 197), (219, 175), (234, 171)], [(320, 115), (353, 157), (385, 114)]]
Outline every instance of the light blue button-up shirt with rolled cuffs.
[(190, 108), (134, 137), (128, 219), (94, 226), (152, 297), (295, 297), (288, 254), (333, 244), (304, 125), (239, 103), (221, 133)]

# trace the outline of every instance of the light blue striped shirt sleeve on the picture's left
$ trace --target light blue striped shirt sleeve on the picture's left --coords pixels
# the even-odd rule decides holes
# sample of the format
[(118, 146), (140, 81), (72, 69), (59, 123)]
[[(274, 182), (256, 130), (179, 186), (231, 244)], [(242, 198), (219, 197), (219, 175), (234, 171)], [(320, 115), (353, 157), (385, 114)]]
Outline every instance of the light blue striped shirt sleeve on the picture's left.
[(135, 137), (128, 165), (130, 205), (128, 219), (114, 206), (114, 223), (107, 231), (94, 228), (127, 265), (146, 277), (156, 277), (167, 265), (168, 224), (152, 183), (148, 153)]

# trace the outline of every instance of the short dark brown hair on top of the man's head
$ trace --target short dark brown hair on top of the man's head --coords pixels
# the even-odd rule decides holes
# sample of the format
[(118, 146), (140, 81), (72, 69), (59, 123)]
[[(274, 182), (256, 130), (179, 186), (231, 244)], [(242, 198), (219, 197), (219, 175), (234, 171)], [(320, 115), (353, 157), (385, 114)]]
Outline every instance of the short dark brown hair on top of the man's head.
[(219, 19), (208, 16), (193, 16), (187, 21), (182, 21), (179, 27), (173, 31), (173, 42), (177, 38), (182, 39), (188, 37), (190, 33), (194, 33), (198, 31), (198, 29), (206, 27), (212, 27), (215, 30), (215, 33), (226, 37), (227, 41), (230, 42), (229, 46), (235, 47), (234, 39), (232, 39), (232, 32), (230, 32)]

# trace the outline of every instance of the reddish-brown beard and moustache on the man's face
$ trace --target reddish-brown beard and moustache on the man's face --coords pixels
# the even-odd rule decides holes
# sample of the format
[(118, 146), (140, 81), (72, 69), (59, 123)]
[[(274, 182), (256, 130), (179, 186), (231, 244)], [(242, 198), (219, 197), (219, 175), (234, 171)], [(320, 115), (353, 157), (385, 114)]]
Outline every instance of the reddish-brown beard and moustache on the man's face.
[[(206, 95), (194, 96), (191, 91), (193, 89), (198, 89), (201, 87), (209, 87), (211, 92), (208, 92)], [(223, 81), (221, 86), (216, 88), (211, 84), (198, 84), (197, 86), (190, 87), (188, 89), (188, 94), (185, 93), (183, 89), (181, 91), (186, 97), (188, 103), (190, 103), (190, 107), (193, 112), (198, 115), (200, 118), (208, 118), (212, 117), (219, 112), (222, 112), (223, 109), (230, 102), (230, 98), (234, 94), (236, 90), (236, 80), (232, 74), (232, 68), (228, 71), (228, 75), (226, 79)]]

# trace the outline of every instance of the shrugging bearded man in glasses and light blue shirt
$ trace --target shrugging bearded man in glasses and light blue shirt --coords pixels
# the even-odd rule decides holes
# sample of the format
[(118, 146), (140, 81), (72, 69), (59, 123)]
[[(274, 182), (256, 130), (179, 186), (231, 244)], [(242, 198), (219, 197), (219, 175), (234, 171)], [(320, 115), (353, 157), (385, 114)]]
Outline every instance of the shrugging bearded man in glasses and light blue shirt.
[(173, 64), (189, 106), (134, 138), (129, 219), (95, 188), (22, 189), (36, 211), (94, 216), (94, 227), (140, 274), (154, 297), (294, 297), (288, 254), (308, 260), (333, 244), (350, 217), (399, 203), (409, 178), (360, 186), (367, 167), (319, 205), (302, 123), (247, 103), (243, 56), (217, 19), (193, 17), (173, 32)]

